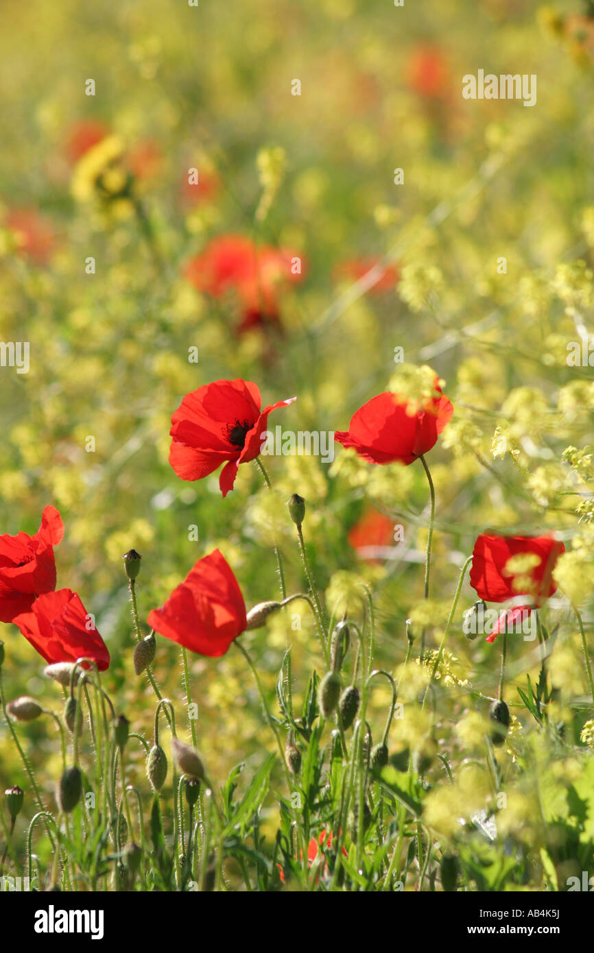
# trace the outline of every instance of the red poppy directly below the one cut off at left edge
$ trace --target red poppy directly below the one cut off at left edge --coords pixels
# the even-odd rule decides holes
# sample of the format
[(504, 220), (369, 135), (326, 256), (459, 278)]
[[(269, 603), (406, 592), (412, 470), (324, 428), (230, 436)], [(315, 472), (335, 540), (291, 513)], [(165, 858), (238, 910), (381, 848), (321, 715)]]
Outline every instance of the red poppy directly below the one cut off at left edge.
[[(93, 659), (99, 671), (110, 664), (110, 653), (80, 598), (72, 589), (58, 589), (36, 598), (31, 612), (12, 619), (34, 649), (49, 664)], [(86, 665), (85, 667), (89, 667)]]

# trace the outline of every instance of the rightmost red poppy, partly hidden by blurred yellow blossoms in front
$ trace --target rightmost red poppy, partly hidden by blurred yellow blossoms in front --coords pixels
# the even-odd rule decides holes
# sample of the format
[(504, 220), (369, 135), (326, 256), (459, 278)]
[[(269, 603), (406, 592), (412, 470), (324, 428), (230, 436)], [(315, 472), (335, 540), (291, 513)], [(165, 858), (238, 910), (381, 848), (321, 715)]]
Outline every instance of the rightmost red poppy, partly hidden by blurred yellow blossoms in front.
[[(552, 536), (507, 537), (482, 533), (472, 552), (470, 584), (477, 595), (486, 602), (506, 602), (508, 599), (526, 596), (526, 604), (514, 606), (502, 612), (487, 641), (492, 642), (505, 625), (508, 630), (527, 618), (532, 608), (540, 608), (553, 595), (557, 584), (553, 569), (557, 559), (564, 553), (563, 542)], [(508, 568), (513, 557), (533, 557), (532, 565)], [(538, 562), (536, 562), (538, 559)], [(526, 616), (522, 617), (522, 612)]]

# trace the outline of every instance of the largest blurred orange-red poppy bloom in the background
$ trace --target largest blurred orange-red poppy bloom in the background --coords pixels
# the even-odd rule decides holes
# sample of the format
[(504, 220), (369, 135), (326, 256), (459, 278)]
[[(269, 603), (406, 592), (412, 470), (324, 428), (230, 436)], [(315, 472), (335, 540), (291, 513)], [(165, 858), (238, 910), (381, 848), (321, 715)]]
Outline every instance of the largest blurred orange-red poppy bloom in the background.
[(236, 294), (242, 314), (238, 331), (244, 332), (278, 323), (278, 292), (302, 277), (300, 271), (293, 274), (294, 258), (299, 256), (258, 247), (243, 235), (221, 235), (191, 259), (185, 276), (197, 291), (212, 297)]

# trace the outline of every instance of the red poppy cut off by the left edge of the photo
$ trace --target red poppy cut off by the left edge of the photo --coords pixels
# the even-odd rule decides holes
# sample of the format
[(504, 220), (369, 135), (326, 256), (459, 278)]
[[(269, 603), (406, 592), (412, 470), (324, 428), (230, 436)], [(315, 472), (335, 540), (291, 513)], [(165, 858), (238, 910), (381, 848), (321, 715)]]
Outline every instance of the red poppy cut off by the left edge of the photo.
[(55, 588), (53, 547), (64, 536), (64, 523), (54, 506), (46, 506), (34, 536), (0, 536), (0, 621), (11, 622), (27, 612), (35, 596)]

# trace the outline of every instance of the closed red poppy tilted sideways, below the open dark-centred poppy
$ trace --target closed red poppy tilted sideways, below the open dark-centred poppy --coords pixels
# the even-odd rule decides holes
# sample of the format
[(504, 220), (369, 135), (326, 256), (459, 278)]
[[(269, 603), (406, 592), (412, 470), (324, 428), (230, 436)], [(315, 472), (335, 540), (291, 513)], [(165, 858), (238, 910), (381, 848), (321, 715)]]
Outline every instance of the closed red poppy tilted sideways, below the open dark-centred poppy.
[(217, 549), (195, 563), (160, 609), (148, 618), (155, 632), (198, 655), (225, 655), (247, 625), (245, 602), (231, 566)]

